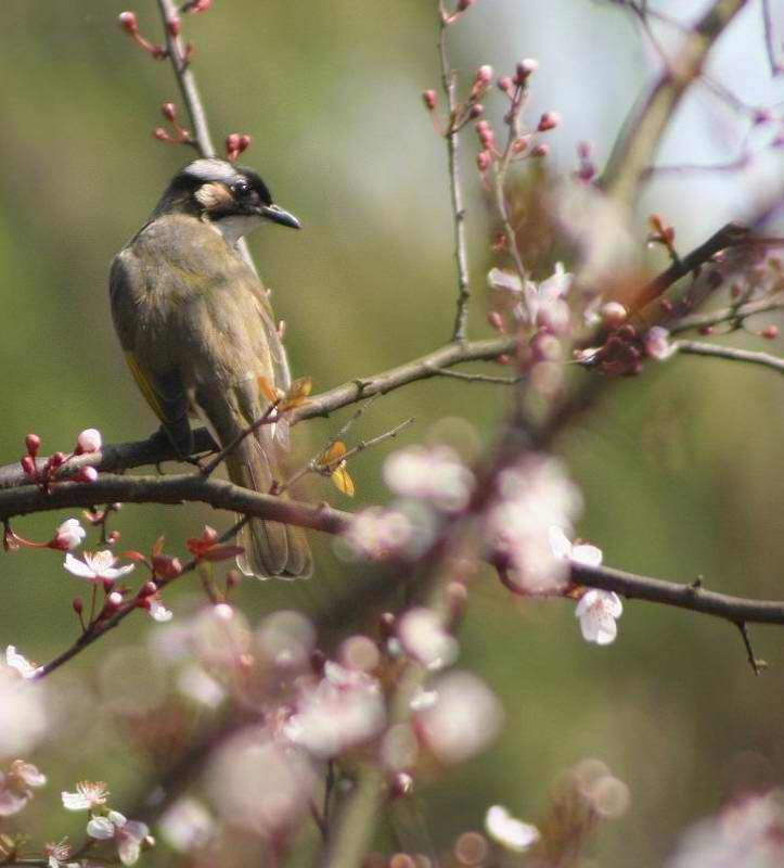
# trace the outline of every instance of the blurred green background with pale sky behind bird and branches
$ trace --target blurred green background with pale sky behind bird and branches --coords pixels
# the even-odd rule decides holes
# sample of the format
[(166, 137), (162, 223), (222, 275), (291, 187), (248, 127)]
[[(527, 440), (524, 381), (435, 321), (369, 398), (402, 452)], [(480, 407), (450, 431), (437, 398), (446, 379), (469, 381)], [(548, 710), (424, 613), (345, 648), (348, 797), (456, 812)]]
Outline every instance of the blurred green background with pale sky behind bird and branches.
[[(687, 20), (703, 5), (659, 8)], [(219, 0), (185, 21), (216, 139), (250, 133), (245, 162), (305, 226), (300, 233), (269, 228), (250, 247), (287, 321), (295, 374), (310, 374), (317, 391), (421, 355), (451, 332), (446, 156), (420, 101), (437, 84), (434, 7), (429, 0)], [(151, 136), (159, 103), (180, 99), (168, 65), (118, 30), (125, 8), (119, 0), (3, 0), (0, 8), (5, 463), (22, 455), (29, 431), (53, 451), (67, 450), (88, 426), (112, 443), (145, 437), (155, 426), (118, 352), (106, 278), (112, 256), (190, 152)], [(142, 33), (157, 39), (156, 4), (139, 0), (134, 9)], [(750, 4), (722, 40), (711, 74), (732, 69), (745, 99), (774, 102), (784, 94), (769, 80), (758, 16)], [(629, 18), (582, 0), (479, 0), (455, 26), (453, 51), (464, 84), (481, 63), (507, 72), (523, 56), (539, 59), (529, 117), (562, 113), (563, 128), (550, 141), (552, 164), (563, 173), (573, 168), (580, 140), (594, 144), (601, 164), (653, 56)], [(498, 116), (498, 100), (491, 94), (487, 103)], [(696, 94), (679, 113), (663, 158), (729, 159), (743, 131), (736, 117)], [(488, 334), (484, 273), (491, 260), (470, 131), (464, 141), (476, 290), (471, 332), (480, 336)], [(686, 251), (754, 203), (764, 170), (668, 178), (652, 187), (641, 219), (663, 213)], [(650, 265), (666, 263), (652, 253)], [(545, 266), (552, 263), (539, 264)], [(377, 401), (354, 433), (372, 436), (415, 416), (403, 442), (446, 431), (490, 443), (506, 397), (491, 385), (415, 384)], [(475, 435), (444, 422), (455, 417)], [(319, 448), (339, 419), (298, 427), (303, 455)], [(580, 533), (614, 566), (684, 582), (702, 575), (711, 589), (784, 598), (783, 421), (784, 392), (772, 373), (721, 361), (676, 359), (614, 384), (558, 444), (586, 496)], [(329, 481), (316, 481), (310, 495), (350, 509), (383, 501), (381, 465), (389, 448), (354, 463), (356, 502)], [(14, 527), (48, 538), (65, 518), (37, 516)], [(230, 518), (193, 506), (129, 506), (114, 526), (127, 547), (149, 550), (165, 533), (167, 549), (181, 552), (205, 520), (223, 528)], [(361, 574), (334, 557), (330, 540), (313, 542), (312, 597), (329, 599)], [(73, 640), (70, 600), (82, 588), (60, 560), (53, 552), (2, 556), (0, 647), (14, 643), (43, 661)], [(299, 602), (272, 583), (245, 583), (240, 599), (252, 618)], [(170, 602), (177, 611), (173, 592)], [(631, 789), (629, 813), (596, 841), (595, 864), (609, 868), (661, 864), (679, 830), (738, 788), (784, 780), (783, 631), (751, 628), (758, 655), (771, 664), (755, 678), (727, 624), (629, 602), (619, 626), (618, 641), (599, 649), (582, 641), (568, 603), (513, 603), (491, 576), (475, 588), (461, 663), (498, 691), (506, 726), (486, 754), (421, 790), (439, 847), (479, 828), (492, 803), (535, 821), (551, 781), (587, 756), (608, 763)], [(113, 655), (151, 629), (142, 618), (124, 624), (55, 678), (66, 688), (79, 674), (100, 698), (101, 667), (116, 664)], [(95, 777), (112, 782), (123, 809), (124, 793), (136, 792), (137, 761), (119, 735), (89, 729), (88, 736), (83, 753), (46, 769), (52, 781), (46, 797)], [(75, 834), (66, 819), (52, 821), (53, 833)]]

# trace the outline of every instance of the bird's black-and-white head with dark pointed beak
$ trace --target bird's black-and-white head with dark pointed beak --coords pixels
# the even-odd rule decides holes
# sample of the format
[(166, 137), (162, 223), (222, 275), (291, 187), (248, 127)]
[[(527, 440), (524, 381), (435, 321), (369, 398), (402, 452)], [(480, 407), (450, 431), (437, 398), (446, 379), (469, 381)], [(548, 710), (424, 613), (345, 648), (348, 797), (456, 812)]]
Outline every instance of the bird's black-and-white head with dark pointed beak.
[(299, 229), (299, 220), (272, 202), (253, 169), (224, 159), (194, 159), (177, 173), (155, 209), (156, 215), (172, 213), (210, 222), (232, 246), (266, 220)]

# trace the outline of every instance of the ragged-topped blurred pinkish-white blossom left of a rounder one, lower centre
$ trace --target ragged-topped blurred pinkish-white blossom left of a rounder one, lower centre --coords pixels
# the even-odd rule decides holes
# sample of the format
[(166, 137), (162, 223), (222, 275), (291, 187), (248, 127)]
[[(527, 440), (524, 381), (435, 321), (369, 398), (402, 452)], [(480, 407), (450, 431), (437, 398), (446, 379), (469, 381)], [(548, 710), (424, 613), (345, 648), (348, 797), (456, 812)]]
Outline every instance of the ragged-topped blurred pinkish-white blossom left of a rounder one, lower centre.
[(286, 720), (283, 735), (320, 760), (362, 744), (386, 725), (381, 685), (363, 672), (327, 661), (324, 677), (306, 687)]

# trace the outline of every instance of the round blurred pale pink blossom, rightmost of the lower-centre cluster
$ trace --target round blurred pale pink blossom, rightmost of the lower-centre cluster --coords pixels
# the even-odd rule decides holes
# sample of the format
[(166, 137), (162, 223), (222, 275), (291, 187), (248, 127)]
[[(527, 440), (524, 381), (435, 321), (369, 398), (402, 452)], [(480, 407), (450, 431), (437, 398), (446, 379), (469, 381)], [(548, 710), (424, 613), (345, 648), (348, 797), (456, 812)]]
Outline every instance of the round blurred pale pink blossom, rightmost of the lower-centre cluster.
[(433, 686), (434, 704), (415, 713), (427, 746), (445, 763), (483, 751), (498, 735), (503, 712), (496, 694), (475, 675), (453, 672)]

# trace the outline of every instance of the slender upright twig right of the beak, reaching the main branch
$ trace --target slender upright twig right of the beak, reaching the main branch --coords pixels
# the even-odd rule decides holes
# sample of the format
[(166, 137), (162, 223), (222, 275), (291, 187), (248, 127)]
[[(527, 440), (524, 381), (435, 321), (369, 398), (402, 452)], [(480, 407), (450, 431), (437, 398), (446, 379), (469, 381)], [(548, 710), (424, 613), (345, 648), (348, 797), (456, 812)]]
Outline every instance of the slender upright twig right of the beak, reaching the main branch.
[(458, 311), (452, 330), (453, 341), (465, 341), (468, 324), (468, 302), (471, 286), (468, 282), (468, 253), (465, 240), (465, 202), (460, 175), (460, 131), (458, 129), (458, 95), (454, 71), (449, 62), (447, 49), (448, 18), (444, 10), (439, 10), (440, 25), (438, 29), (438, 59), (441, 67), (441, 87), (447, 97), (449, 122), (445, 138), (447, 140), (447, 157), (449, 165), (449, 191), (452, 201), (454, 219), (454, 259), (458, 266)]

